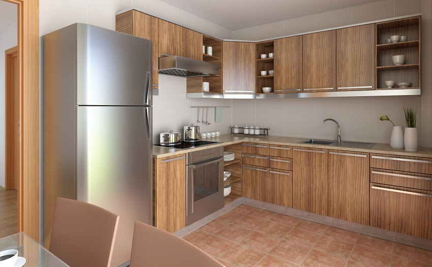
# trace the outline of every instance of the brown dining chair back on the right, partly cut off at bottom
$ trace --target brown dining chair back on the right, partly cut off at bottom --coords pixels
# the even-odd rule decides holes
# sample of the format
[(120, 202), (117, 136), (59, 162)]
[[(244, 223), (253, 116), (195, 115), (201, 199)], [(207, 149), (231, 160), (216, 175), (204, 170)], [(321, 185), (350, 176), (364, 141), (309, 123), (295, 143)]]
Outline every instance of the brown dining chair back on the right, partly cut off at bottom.
[(224, 264), (172, 233), (135, 222), (130, 267), (225, 267)]

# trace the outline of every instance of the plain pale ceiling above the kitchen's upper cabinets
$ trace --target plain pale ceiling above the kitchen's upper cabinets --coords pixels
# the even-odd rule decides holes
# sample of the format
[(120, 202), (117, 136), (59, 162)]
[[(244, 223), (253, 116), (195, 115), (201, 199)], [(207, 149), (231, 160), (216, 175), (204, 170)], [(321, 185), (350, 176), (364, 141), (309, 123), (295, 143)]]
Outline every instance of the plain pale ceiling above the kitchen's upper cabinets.
[(162, 0), (234, 31), (377, 0)]

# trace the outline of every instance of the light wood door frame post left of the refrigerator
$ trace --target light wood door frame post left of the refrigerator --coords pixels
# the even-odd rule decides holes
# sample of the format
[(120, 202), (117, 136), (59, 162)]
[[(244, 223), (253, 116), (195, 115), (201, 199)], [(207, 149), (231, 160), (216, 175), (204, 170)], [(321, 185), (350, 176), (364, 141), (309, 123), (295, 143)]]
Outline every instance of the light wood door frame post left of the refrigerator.
[(39, 0), (17, 5), (20, 110), (18, 231), (39, 241)]

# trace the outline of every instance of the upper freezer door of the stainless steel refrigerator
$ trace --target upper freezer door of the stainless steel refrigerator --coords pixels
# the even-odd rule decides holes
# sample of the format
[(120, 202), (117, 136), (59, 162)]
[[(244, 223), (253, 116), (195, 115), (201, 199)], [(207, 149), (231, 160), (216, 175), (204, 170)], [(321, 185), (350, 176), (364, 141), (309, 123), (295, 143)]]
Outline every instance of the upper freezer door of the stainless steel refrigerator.
[(88, 24), (76, 25), (76, 104), (151, 106), (152, 42)]

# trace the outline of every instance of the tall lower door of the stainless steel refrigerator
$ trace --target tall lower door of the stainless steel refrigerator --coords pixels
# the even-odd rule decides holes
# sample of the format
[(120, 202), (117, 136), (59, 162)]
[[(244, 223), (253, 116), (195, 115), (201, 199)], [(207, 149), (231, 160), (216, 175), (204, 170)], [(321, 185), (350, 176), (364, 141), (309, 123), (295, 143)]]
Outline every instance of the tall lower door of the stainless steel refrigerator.
[(135, 221), (152, 224), (151, 107), (77, 106), (77, 199), (118, 216), (111, 266), (130, 259)]

